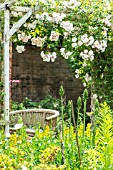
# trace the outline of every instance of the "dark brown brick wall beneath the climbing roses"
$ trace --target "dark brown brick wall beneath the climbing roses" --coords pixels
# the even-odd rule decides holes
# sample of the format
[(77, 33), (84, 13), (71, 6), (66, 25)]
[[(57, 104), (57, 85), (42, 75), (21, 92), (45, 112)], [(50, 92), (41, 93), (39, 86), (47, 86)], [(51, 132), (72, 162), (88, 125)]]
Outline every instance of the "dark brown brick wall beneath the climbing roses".
[(40, 49), (35, 46), (27, 45), (22, 54), (13, 48), (12, 79), (21, 80), (21, 83), (12, 83), (12, 100), (18, 102), (25, 97), (39, 101), (47, 94), (59, 97), (61, 85), (67, 100), (76, 101), (83, 93), (81, 81), (72, 75), (65, 59), (59, 57), (54, 63), (43, 62)]

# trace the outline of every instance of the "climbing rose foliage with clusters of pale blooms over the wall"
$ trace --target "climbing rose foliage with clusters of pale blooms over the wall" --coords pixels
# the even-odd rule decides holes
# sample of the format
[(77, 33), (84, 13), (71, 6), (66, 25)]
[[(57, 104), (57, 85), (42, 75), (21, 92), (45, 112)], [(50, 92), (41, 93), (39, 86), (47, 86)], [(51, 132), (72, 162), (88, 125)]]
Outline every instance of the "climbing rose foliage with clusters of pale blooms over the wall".
[[(32, 44), (44, 62), (64, 57), (75, 77), (113, 107), (113, 2), (20, 0), (15, 6), (37, 7), (12, 37), (17, 51)], [(23, 15), (11, 11), (12, 24)]]

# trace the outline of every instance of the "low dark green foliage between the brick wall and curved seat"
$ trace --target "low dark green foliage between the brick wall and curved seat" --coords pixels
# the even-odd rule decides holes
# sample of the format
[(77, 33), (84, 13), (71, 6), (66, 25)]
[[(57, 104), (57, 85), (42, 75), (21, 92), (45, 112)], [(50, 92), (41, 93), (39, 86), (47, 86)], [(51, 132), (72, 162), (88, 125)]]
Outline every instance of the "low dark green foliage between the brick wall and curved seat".
[(61, 105), (64, 109), (64, 118), (68, 119), (70, 117), (69, 114), (69, 108), (70, 105), (66, 103), (66, 99), (63, 96), (61, 103), (61, 99), (58, 99), (56, 97), (53, 97), (52, 95), (45, 96), (44, 99), (35, 102), (32, 101), (29, 98), (24, 98), (22, 103), (11, 101), (11, 110), (24, 110), (24, 109), (30, 109), (30, 108), (45, 108), (45, 109), (52, 109), (52, 110), (58, 110), (61, 113)]

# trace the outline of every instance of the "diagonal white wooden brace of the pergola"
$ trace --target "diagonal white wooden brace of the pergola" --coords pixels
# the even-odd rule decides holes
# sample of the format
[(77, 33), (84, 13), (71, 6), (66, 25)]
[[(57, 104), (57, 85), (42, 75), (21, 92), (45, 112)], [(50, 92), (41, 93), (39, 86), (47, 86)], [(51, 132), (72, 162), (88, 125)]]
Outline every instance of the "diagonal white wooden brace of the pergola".
[(32, 15), (32, 10), (28, 11), (7, 33), (7, 40), (26, 22), (26, 20)]

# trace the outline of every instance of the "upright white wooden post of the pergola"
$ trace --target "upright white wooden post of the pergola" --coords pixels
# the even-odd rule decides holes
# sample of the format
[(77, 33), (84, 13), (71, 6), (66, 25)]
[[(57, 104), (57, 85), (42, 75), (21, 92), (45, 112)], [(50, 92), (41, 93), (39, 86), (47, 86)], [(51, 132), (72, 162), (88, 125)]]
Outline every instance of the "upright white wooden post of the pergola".
[(4, 11), (4, 115), (5, 115), (5, 135), (9, 136), (9, 39), (7, 33), (9, 32), (9, 10)]

